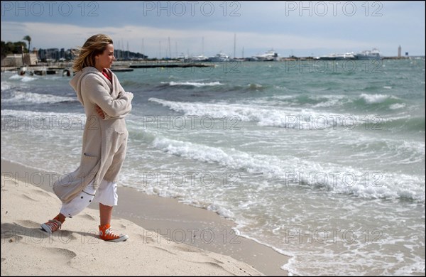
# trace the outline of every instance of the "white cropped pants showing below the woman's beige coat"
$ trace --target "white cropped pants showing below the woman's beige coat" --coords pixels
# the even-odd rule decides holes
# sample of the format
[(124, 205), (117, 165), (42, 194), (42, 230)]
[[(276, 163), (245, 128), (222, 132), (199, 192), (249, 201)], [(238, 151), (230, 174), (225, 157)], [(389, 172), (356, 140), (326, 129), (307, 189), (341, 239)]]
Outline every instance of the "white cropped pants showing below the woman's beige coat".
[(117, 184), (114, 182), (107, 182), (102, 180), (99, 188), (93, 188), (93, 182), (87, 185), (80, 195), (75, 197), (70, 202), (62, 204), (60, 213), (65, 217), (74, 217), (90, 205), (92, 201), (102, 203), (106, 206), (116, 206), (119, 201), (119, 195), (117, 195)]

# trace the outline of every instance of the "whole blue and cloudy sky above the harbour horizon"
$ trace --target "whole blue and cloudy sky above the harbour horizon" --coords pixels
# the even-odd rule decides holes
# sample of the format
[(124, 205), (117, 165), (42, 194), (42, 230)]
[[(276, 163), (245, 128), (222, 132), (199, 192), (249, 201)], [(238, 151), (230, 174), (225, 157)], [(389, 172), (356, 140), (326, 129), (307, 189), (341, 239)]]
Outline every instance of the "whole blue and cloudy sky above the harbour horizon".
[[(1, 40), (77, 48), (106, 33), (148, 55), (425, 55), (424, 1), (1, 1)], [(234, 47), (235, 45), (235, 47)], [(235, 50), (234, 50), (235, 49)]]

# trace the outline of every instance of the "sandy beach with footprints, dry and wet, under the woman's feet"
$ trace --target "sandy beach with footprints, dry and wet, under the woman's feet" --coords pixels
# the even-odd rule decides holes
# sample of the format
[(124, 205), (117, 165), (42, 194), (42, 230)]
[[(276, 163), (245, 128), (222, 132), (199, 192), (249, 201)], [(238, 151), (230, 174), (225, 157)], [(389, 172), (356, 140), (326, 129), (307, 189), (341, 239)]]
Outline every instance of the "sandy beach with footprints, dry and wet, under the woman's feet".
[(111, 222), (128, 241), (98, 239), (97, 204), (46, 234), (40, 223), (61, 204), (40, 174), (1, 160), (1, 275), (286, 275), (288, 257), (236, 236), (232, 222), (130, 188)]

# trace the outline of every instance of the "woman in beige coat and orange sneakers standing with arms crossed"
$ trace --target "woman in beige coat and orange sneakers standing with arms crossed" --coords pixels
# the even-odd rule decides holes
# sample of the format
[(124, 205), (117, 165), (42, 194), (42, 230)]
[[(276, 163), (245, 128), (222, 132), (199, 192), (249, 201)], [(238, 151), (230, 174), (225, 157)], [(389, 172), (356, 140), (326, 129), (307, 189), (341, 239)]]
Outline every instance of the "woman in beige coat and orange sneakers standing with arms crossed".
[(60, 213), (41, 224), (52, 233), (62, 227), (66, 217), (82, 212), (92, 200), (99, 202), (99, 237), (105, 241), (125, 241), (127, 235), (111, 229), (112, 209), (117, 205), (116, 181), (126, 156), (127, 138), (124, 116), (131, 111), (133, 94), (125, 92), (109, 68), (114, 58), (114, 45), (104, 34), (86, 40), (75, 58), (70, 81), (84, 107), (84, 126), (80, 166), (73, 173), (62, 175), (53, 191), (62, 201)]

